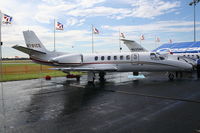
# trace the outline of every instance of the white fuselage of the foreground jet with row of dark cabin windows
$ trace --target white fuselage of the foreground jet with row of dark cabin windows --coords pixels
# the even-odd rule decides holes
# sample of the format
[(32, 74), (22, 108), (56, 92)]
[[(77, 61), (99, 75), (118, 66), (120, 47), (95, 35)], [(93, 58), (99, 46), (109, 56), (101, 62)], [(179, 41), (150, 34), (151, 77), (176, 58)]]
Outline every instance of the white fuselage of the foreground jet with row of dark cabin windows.
[[(192, 65), (173, 55), (154, 52), (63, 54), (56, 57), (40, 57), (37, 63), (59, 67), (116, 67), (119, 72), (130, 71), (188, 71)], [(33, 59), (34, 60), (34, 59)], [(45, 61), (46, 60), (46, 61)], [(48, 60), (48, 61), (47, 61)]]

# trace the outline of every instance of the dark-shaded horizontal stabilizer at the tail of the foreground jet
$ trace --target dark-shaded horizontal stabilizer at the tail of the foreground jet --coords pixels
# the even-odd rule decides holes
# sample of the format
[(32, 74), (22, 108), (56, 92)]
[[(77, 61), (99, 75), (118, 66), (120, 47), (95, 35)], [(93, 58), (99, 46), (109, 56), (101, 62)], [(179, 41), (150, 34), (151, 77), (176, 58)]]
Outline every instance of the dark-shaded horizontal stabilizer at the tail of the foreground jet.
[(31, 54), (46, 54), (46, 53), (41, 52), (41, 51), (37, 51), (37, 50), (34, 50), (34, 49), (30, 49), (30, 48), (18, 46), (18, 45), (13, 46), (12, 48), (17, 49), (17, 50), (24, 52), (26, 54), (29, 54), (29, 55), (31, 55)]

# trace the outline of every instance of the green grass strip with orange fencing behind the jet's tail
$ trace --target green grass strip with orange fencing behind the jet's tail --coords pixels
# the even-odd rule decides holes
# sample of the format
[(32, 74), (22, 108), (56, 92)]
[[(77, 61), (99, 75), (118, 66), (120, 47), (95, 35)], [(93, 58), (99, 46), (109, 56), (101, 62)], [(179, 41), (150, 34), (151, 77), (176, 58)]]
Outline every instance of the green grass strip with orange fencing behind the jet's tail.
[[(11, 62), (4, 62), (11, 63)], [(13, 64), (12, 64), (13, 63)], [(24, 64), (15, 64), (16, 62), (12, 61), (11, 64), (2, 64), (4, 71), (3, 75), (0, 75), (0, 81), (15, 81), (15, 80), (28, 80), (28, 79), (37, 79), (44, 78), (49, 75), (51, 77), (62, 77), (67, 74), (62, 71), (49, 70), (48, 66), (41, 66), (35, 63)], [(20, 62), (17, 62), (20, 63)], [(40, 69), (42, 68), (41, 72)], [(70, 72), (75, 75), (83, 75), (82, 72)]]

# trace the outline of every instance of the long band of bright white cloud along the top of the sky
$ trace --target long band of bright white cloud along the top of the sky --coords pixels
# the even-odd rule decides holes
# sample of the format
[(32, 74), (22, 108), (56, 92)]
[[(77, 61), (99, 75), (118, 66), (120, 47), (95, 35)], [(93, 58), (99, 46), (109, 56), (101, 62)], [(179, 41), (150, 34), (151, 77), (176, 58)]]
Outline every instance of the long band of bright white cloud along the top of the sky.
[(38, 5), (38, 12), (35, 15), (36, 20), (42, 23), (50, 23), (51, 19), (62, 17), (63, 14), (74, 18), (71, 23), (74, 23), (74, 20), (78, 19), (77, 17), (84, 17), (83, 19), (97, 16), (111, 19), (124, 19), (127, 17), (154, 18), (175, 11), (180, 6), (178, 1), (165, 2), (163, 0), (126, 1), (126, 5), (129, 6), (123, 8), (102, 6), (106, 4), (105, 0), (75, 0), (67, 2), (63, 0), (43, 0), (43, 2), (43, 4)]

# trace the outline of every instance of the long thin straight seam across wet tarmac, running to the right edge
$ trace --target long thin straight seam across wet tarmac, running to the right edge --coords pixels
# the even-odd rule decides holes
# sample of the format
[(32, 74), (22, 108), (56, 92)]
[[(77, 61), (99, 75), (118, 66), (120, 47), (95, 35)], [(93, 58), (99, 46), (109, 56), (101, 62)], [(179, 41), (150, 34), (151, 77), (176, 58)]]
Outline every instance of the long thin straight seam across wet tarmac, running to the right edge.
[(176, 98), (176, 97), (166, 97), (166, 96), (157, 96), (157, 95), (149, 95), (149, 94), (145, 94), (145, 93), (127, 92), (127, 91), (115, 91), (115, 90), (106, 90), (106, 91), (117, 92), (117, 93), (128, 94), (128, 95), (135, 95), (135, 96), (144, 96), (144, 97), (152, 97), (152, 98), (158, 98), (158, 99), (167, 99), (167, 100), (183, 101), (183, 102), (200, 104), (199, 100), (191, 100), (191, 99)]

